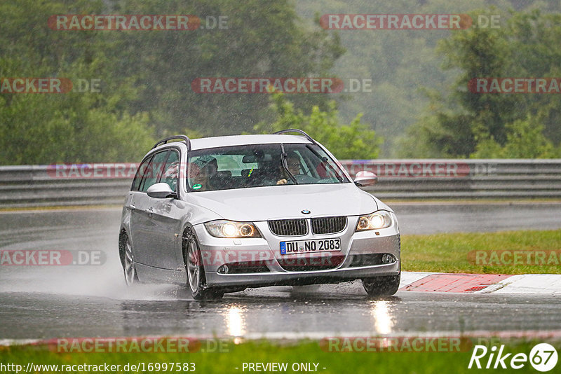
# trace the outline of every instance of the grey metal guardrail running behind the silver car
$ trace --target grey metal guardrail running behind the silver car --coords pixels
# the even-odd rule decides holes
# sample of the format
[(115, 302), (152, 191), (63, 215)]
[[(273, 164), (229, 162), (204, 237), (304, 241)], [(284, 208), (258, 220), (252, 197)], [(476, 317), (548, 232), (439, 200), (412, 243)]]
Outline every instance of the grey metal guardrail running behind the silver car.
[[(343, 160), (351, 176), (378, 175), (365, 188), (381, 199), (561, 198), (561, 159)], [(120, 205), (137, 164), (0, 167), (0, 208)]]

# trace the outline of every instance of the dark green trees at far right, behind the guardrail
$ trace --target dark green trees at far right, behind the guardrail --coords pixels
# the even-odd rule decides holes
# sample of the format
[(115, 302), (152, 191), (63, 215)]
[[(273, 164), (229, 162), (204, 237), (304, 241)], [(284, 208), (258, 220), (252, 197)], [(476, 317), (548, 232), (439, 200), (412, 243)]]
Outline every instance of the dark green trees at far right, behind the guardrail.
[[(492, 8), (487, 13), (497, 11)], [(503, 19), (506, 22), (499, 29), (461, 30), (440, 43), (439, 52), (446, 57), (444, 68), (461, 73), (449, 95), (432, 92), (430, 109), (408, 130), (408, 139), (402, 142), (402, 154), (417, 157), (500, 154), (528, 158), (553, 154), (540, 148), (537, 129), (543, 139), (559, 144), (560, 95), (468, 90), (468, 82), (478, 77), (541, 78), (561, 73), (561, 54), (557, 48), (561, 14), (542, 15), (534, 10), (512, 12), (509, 17), (503, 15)], [(517, 141), (515, 136), (520, 133), (527, 137)], [(532, 147), (532, 141), (539, 142), (536, 148)]]

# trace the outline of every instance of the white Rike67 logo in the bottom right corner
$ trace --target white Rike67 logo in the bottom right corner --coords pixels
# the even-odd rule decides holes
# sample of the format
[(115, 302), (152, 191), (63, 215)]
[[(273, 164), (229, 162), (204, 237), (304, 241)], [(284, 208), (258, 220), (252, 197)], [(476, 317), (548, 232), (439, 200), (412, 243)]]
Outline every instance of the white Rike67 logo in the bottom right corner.
[(534, 345), (529, 356), (525, 353), (514, 355), (513, 353), (507, 353), (504, 345), (501, 345), (499, 348), (494, 345), (490, 349), (487, 349), (485, 345), (475, 345), (469, 360), (468, 369), (506, 369), (510, 367), (518, 370), (525, 367), (528, 361), (538, 371), (550, 371), (557, 365), (557, 351), (553, 345), (548, 343)]

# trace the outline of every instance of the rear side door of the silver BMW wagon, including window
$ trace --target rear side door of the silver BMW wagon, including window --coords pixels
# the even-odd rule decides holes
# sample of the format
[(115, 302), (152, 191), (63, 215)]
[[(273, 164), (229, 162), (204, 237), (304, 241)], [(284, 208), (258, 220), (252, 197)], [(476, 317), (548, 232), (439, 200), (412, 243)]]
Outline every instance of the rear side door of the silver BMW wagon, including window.
[(142, 265), (154, 266), (151, 252), (158, 245), (154, 239), (156, 229), (152, 219), (154, 213), (151, 211), (151, 198), (146, 191), (160, 178), (168, 153), (169, 151), (165, 150), (154, 154), (143, 173), (142, 181), (137, 187), (138, 191), (133, 196), (133, 202), (131, 202), (133, 205), (130, 212), (131, 240), (135, 249), (135, 262)]

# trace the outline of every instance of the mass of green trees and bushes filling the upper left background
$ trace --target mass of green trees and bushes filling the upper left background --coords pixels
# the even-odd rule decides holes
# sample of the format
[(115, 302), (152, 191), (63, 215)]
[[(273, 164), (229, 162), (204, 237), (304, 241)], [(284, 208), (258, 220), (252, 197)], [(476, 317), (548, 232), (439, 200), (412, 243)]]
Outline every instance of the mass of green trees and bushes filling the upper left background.
[[(151, 14), (227, 17), (227, 29), (64, 31), (51, 15)], [(100, 79), (101, 92), (0, 94), (0, 163), (137, 160), (154, 134), (249, 130), (268, 97), (198, 94), (198, 77), (322, 76), (344, 50), (307, 27), (289, 0), (7, 0), (0, 3), (0, 76)], [(325, 95), (295, 105), (326, 107)], [(35, 139), (40, 139), (41, 147)]]

